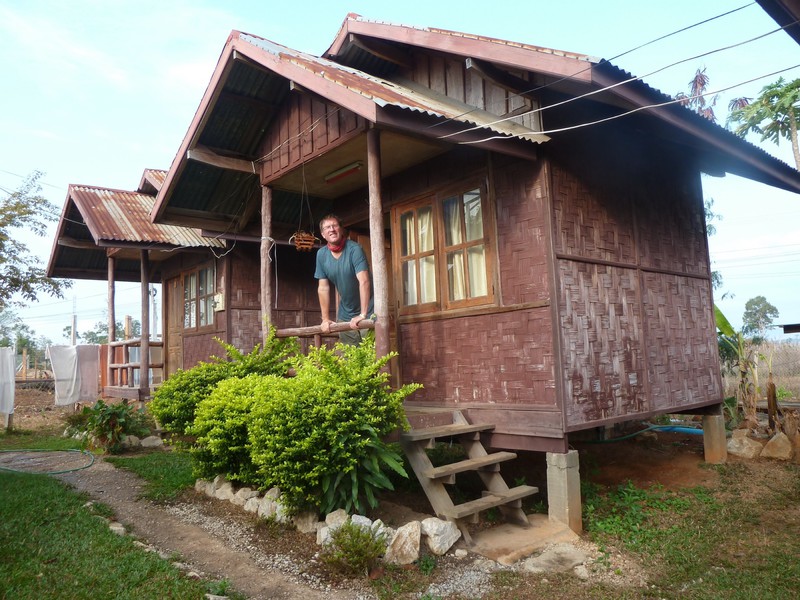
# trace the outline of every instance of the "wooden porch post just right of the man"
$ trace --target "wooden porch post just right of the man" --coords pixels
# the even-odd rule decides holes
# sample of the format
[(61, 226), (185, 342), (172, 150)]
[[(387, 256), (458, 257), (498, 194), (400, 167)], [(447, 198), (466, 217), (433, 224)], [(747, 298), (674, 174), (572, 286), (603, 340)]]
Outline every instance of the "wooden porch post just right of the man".
[(369, 237), (372, 247), (372, 283), (375, 302), (375, 354), (389, 354), (389, 277), (386, 272), (383, 200), (381, 197), (380, 131), (367, 132), (367, 182), (369, 185)]

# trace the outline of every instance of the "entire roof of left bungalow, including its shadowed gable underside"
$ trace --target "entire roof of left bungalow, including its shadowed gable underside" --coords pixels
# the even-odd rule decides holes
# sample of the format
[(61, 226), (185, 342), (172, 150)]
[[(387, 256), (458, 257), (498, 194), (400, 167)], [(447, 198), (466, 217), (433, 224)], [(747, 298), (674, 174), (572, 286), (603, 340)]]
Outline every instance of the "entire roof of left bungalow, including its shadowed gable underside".
[[(160, 185), (165, 171), (147, 170), (140, 188)], [(70, 185), (47, 267), (49, 277), (107, 279), (108, 256), (117, 259), (115, 277), (141, 279), (142, 250), (152, 261), (177, 249), (224, 248), (225, 242), (202, 237), (195, 229), (154, 224), (155, 196), (95, 186)]]

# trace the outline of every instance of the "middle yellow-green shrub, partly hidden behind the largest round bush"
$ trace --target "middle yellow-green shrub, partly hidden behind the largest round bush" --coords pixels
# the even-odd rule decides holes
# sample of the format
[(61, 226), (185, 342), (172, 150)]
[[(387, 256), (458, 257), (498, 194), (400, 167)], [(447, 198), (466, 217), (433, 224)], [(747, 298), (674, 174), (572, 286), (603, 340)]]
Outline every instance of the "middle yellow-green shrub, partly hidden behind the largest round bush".
[(189, 433), (197, 436), (191, 453), (198, 477), (225, 473), (231, 481), (256, 481), (248, 443), (250, 413), (257, 399), (266, 395), (265, 390), (281, 381), (277, 375), (226, 379), (200, 401), (189, 428)]

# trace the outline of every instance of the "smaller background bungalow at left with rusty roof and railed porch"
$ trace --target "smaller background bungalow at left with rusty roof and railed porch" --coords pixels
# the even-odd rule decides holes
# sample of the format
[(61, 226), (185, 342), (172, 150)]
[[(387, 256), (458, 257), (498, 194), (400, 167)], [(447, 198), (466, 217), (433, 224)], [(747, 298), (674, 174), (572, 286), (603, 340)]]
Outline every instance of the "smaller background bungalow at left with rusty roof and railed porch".
[[(102, 357), (105, 367), (103, 395), (106, 397), (145, 400), (165, 373), (177, 368), (174, 361), (167, 368), (162, 340), (150, 336), (151, 318), (156, 317), (150, 314), (150, 284), (171, 281), (174, 273), (215, 265), (217, 257), (227, 253), (224, 242), (203, 237), (195, 229), (152, 223), (150, 211), (165, 177), (166, 171), (147, 169), (136, 191), (70, 185), (53, 242), (47, 267), (49, 277), (108, 282), (111, 343)], [(233, 261), (233, 255), (220, 259), (223, 265)], [(119, 341), (114, 310), (117, 281), (141, 283), (142, 307), (141, 335), (126, 336)], [(189, 283), (198, 285), (190, 279), (185, 286), (187, 290), (191, 288)], [(218, 287), (216, 281), (209, 285), (213, 289)], [(192, 311), (199, 314), (200, 319), (215, 319), (216, 305), (206, 302), (201, 306), (205, 299), (204, 295), (187, 292), (185, 300), (179, 299), (180, 310), (165, 312), (165, 315), (170, 318), (179, 315), (179, 328), (186, 325), (188, 331), (192, 324), (192, 317), (188, 315)], [(189, 319), (187, 323), (183, 322), (184, 314)], [(174, 329), (175, 324), (168, 321), (165, 329), (170, 327)], [(222, 339), (230, 339), (225, 335), (224, 323), (215, 333)], [(235, 341), (253, 344), (258, 337)], [(171, 348), (170, 345), (166, 347)], [(219, 353), (219, 347), (217, 351)]]

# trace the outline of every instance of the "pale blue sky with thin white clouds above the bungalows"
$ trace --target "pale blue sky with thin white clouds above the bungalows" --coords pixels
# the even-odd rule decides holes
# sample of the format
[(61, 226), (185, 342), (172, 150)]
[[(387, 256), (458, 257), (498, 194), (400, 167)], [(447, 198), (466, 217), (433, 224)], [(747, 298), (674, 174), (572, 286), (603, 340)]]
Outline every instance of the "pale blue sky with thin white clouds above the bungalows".
[[(231, 30), (318, 56), (350, 12), (605, 58), (672, 95), (705, 68), (722, 124), (732, 98), (800, 78), (800, 46), (747, 0), (0, 0), (0, 193), (34, 171), (59, 211), (69, 184), (135, 190), (144, 169), (169, 168)], [(748, 140), (793, 164), (787, 141)], [(718, 216), (709, 248), (722, 312), (739, 327), (761, 295), (776, 323), (800, 323), (800, 195), (730, 175), (704, 176), (703, 189)], [(29, 242), (43, 265), (55, 229)], [(66, 343), (73, 314), (79, 332), (107, 320), (106, 286), (76, 281), (63, 299), (16, 312), (37, 336)], [(117, 283), (115, 309), (139, 318), (138, 284)]]

